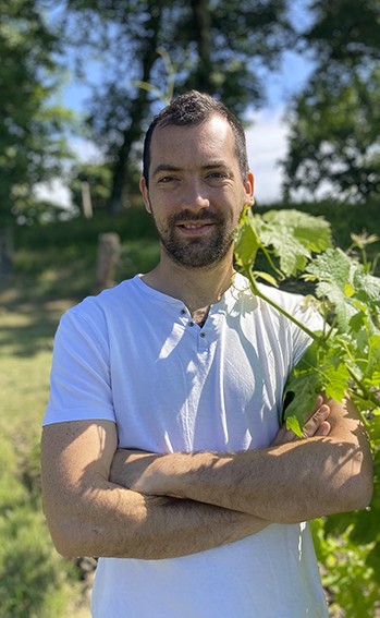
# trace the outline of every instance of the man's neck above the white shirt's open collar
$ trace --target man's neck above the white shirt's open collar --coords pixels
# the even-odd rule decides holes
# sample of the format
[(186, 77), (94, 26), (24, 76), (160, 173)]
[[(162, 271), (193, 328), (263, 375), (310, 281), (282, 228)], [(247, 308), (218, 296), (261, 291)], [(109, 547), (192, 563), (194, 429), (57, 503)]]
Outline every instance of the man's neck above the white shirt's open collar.
[(210, 305), (219, 302), (231, 286), (233, 274), (231, 258), (208, 268), (186, 268), (161, 259), (154, 270), (143, 276), (143, 281), (183, 301), (196, 322), (201, 323)]

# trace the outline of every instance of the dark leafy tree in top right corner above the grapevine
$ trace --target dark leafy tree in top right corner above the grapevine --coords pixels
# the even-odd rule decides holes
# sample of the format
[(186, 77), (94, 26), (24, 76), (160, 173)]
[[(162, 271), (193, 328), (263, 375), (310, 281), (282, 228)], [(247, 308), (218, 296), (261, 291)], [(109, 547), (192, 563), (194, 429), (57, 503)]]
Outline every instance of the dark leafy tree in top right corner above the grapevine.
[(316, 0), (301, 35), (316, 69), (291, 105), (284, 193), (364, 201), (380, 193), (380, 3)]

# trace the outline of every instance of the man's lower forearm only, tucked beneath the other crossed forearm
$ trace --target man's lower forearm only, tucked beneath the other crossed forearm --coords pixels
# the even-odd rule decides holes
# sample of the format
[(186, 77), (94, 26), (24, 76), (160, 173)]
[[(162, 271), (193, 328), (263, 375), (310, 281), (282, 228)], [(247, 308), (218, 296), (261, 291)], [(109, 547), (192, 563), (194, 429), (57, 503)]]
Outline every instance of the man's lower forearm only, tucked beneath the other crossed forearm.
[(213, 505), (145, 497), (120, 487), (96, 490), (88, 504), (82, 498), (81, 510), (83, 516), (69, 516), (66, 533), (60, 528), (56, 535), (51, 529), (58, 550), (69, 557), (175, 558), (238, 541), (268, 525)]

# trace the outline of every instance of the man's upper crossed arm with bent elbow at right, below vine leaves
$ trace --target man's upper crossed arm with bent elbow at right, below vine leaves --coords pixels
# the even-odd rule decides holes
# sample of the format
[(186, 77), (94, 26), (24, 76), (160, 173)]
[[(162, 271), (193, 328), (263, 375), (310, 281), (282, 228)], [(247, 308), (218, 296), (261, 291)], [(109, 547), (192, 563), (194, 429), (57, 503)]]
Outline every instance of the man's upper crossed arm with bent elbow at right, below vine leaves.
[(371, 463), (366, 437), (359, 436), (363, 428), (354, 417), (342, 425), (342, 410), (332, 424), (335, 437), (256, 451), (164, 456), (126, 451), (124, 466), (119, 461), (120, 483), (278, 523), (364, 508), (371, 493)]

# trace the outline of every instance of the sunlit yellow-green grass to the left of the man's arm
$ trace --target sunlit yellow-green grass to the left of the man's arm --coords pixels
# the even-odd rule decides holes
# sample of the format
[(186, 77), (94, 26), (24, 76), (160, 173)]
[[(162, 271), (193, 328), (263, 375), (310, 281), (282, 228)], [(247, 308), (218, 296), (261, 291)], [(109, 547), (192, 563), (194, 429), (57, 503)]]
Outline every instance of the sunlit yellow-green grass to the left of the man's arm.
[(0, 301), (0, 618), (78, 616), (78, 575), (52, 546), (39, 483), (52, 337), (68, 303)]

